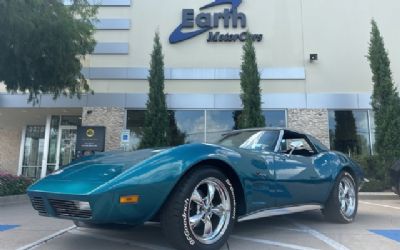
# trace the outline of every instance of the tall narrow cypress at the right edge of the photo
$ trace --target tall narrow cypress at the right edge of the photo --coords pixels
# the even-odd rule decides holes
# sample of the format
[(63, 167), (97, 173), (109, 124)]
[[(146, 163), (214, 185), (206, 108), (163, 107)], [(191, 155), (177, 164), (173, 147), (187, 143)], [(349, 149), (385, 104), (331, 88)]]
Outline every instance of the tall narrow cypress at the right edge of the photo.
[(371, 41), (368, 60), (374, 90), (371, 105), (375, 113), (376, 152), (387, 160), (400, 156), (400, 98), (392, 79), (390, 60), (383, 37), (374, 20), (371, 21)]

